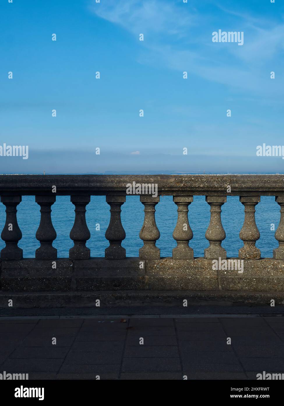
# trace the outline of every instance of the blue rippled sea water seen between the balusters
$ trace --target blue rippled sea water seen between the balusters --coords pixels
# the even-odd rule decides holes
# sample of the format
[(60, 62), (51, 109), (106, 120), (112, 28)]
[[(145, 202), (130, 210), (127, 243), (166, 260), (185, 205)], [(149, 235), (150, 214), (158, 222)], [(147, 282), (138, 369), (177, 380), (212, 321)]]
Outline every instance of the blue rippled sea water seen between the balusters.
[[(57, 238), (53, 246), (58, 250), (58, 257), (68, 257), (69, 248), (73, 246), (69, 233), (73, 227), (75, 206), (70, 202), (70, 196), (56, 197), (56, 203), (51, 206), (51, 218), (56, 229)], [(22, 202), (17, 206), (17, 219), (22, 231), (23, 238), (19, 241), (19, 247), (23, 248), (23, 256), (33, 258), (39, 242), (35, 238), (36, 230), (40, 222), (40, 206), (35, 203), (34, 196), (23, 196)], [(109, 205), (105, 196), (92, 196), (91, 202), (86, 207), (86, 220), (91, 233), (87, 246), (91, 250), (92, 257), (104, 257), (105, 248), (109, 246), (105, 239), (105, 231), (109, 225)], [(143, 225), (144, 206), (139, 201), (139, 196), (127, 196), (126, 203), (122, 205), (122, 225), (126, 232), (126, 238), (122, 246), (126, 248), (127, 257), (137, 257), (138, 250), (143, 246), (139, 238), (139, 231)], [(194, 249), (195, 257), (202, 257), (204, 249), (209, 245), (205, 238), (205, 231), (210, 220), (210, 206), (205, 202), (205, 196), (194, 196), (194, 201), (189, 205), (189, 223), (193, 231), (190, 246)], [(244, 206), (239, 197), (227, 197), (227, 203), (222, 205), (222, 224), (226, 231), (226, 239), (222, 246), (227, 251), (228, 257), (236, 257), (241, 248), (242, 241), (239, 231), (243, 225)], [(278, 241), (274, 238), (275, 231), (271, 230), (271, 224), (278, 227), (280, 220), (280, 206), (273, 196), (262, 196), (261, 202), (256, 205), (256, 225), (261, 237), (256, 246), (261, 250), (262, 257), (272, 257), (273, 248), (278, 247)], [(5, 224), (5, 207), (0, 205), (0, 229)], [(171, 257), (172, 249), (176, 246), (173, 239), (173, 230), (177, 221), (177, 205), (173, 203), (172, 196), (161, 196), (160, 203), (156, 205), (156, 223), (160, 231), (160, 239), (156, 242), (161, 250), (162, 257)], [(96, 231), (96, 224), (100, 224), (100, 231)], [(5, 246), (0, 240), (0, 249)]]

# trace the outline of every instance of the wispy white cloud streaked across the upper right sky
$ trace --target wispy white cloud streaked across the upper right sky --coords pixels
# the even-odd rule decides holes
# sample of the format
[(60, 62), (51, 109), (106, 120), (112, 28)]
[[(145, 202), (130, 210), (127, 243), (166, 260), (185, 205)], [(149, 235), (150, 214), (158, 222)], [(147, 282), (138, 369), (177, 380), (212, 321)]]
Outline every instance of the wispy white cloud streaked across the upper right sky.
[[(233, 15), (234, 26), (245, 26), (246, 31), (243, 46), (212, 43), (208, 26), (215, 24), (213, 17), (183, 5), (162, 0), (111, 0), (102, 2), (99, 7), (93, 6), (92, 10), (98, 17), (137, 35), (137, 41), (139, 33), (148, 33), (137, 57), (140, 63), (186, 70), (208, 81), (238, 89), (280, 95), (284, 81), (278, 76), (279, 86), (275, 90), (267, 79), (270, 80), (271, 70), (278, 70), (276, 57), (284, 49), (284, 24), (273, 25), (265, 18), (258, 22), (246, 11), (236, 12), (216, 4), (216, 9)], [(219, 25), (220, 20), (216, 21)], [(216, 29), (219, 28), (222, 27)], [(270, 65), (269, 61), (272, 61)]]

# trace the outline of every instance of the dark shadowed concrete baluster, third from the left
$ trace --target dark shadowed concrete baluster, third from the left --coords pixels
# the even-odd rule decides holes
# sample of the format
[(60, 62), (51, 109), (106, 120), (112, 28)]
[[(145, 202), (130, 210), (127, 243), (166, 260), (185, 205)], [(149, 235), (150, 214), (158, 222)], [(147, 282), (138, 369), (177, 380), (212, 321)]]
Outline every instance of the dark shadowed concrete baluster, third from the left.
[(89, 259), (90, 248), (86, 247), (86, 242), (91, 234), (86, 223), (86, 205), (90, 203), (90, 196), (71, 196), (71, 202), (75, 205), (75, 221), (70, 238), (74, 241), (74, 246), (69, 250), (70, 259)]

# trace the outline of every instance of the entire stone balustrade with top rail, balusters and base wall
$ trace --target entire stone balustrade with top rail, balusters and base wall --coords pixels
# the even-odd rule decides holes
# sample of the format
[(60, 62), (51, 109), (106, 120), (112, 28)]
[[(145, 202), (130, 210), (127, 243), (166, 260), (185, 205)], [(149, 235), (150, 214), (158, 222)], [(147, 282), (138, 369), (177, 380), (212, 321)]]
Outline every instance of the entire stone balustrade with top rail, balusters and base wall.
[[(127, 184), (157, 185), (157, 193), (140, 194), (144, 223), (139, 233), (139, 257), (127, 258), (122, 246), (126, 237), (121, 221)], [(148, 190), (149, 191), (149, 190)], [(17, 223), (17, 205), (23, 195), (34, 195), (40, 206), (41, 220), (36, 231), (40, 247), (35, 259), (23, 259), (18, 242), (22, 233)], [(52, 225), (51, 206), (56, 196), (70, 196), (75, 206), (69, 259), (57, 257), (56, 230)], [(109, 246), (105, 258), (90, 258), (90, 231), (85, 219), (91, 196), (106, 196), (110, 206), (109, 227), (105, 233)], [(177, 223), (172, 257), (160, 258), (156, 241), (160, 231), (155, 221), (155, 207), (160, 195), (173, 196)], [(193, 237), (188, 220), (194, 195), (204, 195), (210, 206), (210, 222), (205, 233), (209, 246), (203, 258), (195, 258), (189, 243)], [(106, 291), (106, 290), (188, 290), (284, 292), (284, 179), (282, 175), (0, 175), (1, 202), (6, 206), (6, 222), (1, 234), (6, 246), (1, 250), (1, 292)], [(239, 236), (243, 247), (238, 259), (244, 272), (212, 269), (212, 260), (226, 259), (222, 241), (221, 207), (227, 196), (239, 196), (244, 206), (244, 222)], [(279, 246), (273, 258), (261, 259), (256, 248), (260, 233), (255, 222), (256, 205), (261, 196), (275, 196), (280, 205), (280, 224), (275, 232)], [(64, 208), (62, 207), (62, 210)], [(276, 241), (275, 241), (276, 243)], [(24, 247), (23, 247), (24, 249)], [(54, 267), (53, 263), (56, 263)], [(141, 266), (142, 264), (142, 266)]]

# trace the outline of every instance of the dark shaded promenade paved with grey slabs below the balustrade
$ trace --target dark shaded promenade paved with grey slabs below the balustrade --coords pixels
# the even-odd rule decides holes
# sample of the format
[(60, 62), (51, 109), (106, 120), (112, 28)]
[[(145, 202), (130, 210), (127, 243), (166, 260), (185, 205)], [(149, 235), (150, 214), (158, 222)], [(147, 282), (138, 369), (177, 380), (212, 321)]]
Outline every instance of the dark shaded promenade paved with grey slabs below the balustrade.
[(284, 372), (284, 317), (2, 318), (3, 371), (29, 379), (256, 379)]

